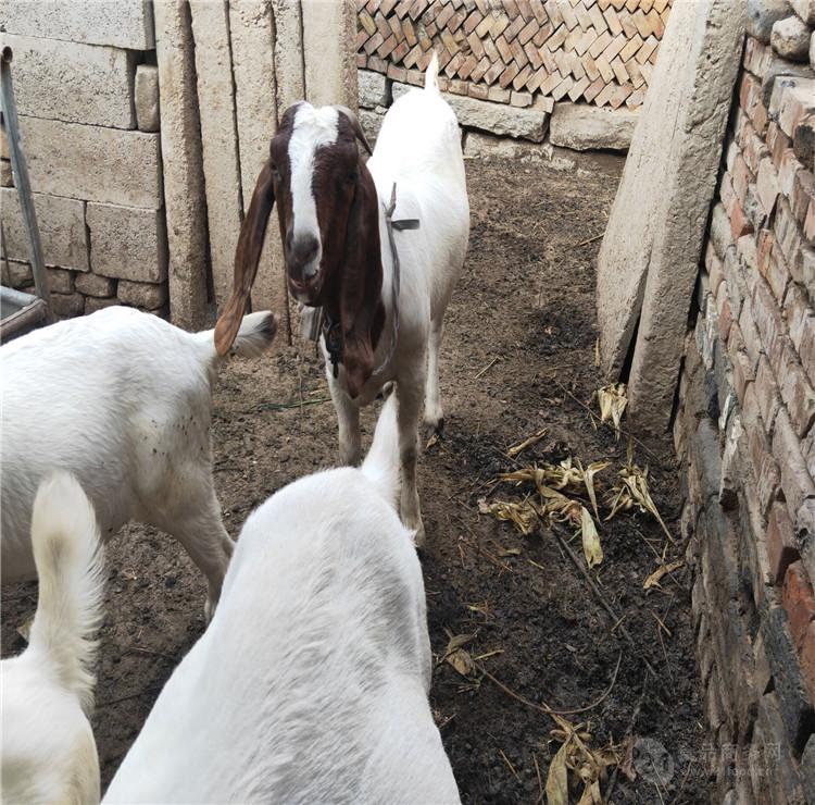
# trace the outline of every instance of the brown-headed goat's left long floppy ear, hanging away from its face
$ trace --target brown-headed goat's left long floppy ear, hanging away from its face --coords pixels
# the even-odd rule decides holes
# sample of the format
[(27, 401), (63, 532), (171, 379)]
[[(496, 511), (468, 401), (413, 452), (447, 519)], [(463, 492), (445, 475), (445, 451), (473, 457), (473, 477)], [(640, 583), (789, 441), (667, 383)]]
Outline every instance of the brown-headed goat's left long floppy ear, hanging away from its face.
[(218, 355), (223, 356), (229, 351), (240, 330), (240, 322), (249, 305), (252, 283), (258, 273), (266, 224), (274, 206), (275, 188), (272, 181), (272, 166), (266, 162), (254, 186), (249, 212), (240, 227), (238, 248), (235, 250), (233, 294), (215, 325), (215, 349)]

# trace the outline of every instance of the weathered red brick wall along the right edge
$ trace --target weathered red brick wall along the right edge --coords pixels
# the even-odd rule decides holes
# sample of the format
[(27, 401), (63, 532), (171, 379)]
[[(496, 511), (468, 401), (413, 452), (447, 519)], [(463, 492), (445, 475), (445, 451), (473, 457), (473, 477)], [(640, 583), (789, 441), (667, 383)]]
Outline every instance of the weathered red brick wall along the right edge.
[(728, 802), (813, 803), (815, 74), (772, 41), (744, 46), (674, 436), (711, 770)]

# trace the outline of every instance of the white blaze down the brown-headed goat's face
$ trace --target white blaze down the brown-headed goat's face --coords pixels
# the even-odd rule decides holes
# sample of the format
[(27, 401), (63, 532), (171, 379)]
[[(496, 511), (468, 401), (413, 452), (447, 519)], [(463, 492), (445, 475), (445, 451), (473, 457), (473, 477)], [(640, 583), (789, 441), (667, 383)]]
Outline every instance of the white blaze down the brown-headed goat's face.
[[(337, 141), (339, 113), (333, 107), (312, 107), (303, 103), (294, 115), (289, 138), (289, 165), (291, 168), (291, 230), (297, 239), (313, 235), (319, 243), (317, 203), (312, 188), (314, 157), (318, 148)], [(322, 253), (322, 243), (319, 252)], [(317, 264), (321, 253), (317, 255)]]

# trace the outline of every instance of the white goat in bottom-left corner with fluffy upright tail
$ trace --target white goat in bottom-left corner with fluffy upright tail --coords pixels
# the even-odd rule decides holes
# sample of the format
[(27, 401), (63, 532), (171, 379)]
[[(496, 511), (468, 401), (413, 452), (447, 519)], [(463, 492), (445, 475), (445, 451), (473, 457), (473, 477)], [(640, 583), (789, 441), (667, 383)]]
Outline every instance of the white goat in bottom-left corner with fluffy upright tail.
[(66, 473), (46, 480), (32, 517), (39, 600), (28, 647), (0, 662), (2, 801), (99, 802), (92, 635), (102, 619), (93, 508)]

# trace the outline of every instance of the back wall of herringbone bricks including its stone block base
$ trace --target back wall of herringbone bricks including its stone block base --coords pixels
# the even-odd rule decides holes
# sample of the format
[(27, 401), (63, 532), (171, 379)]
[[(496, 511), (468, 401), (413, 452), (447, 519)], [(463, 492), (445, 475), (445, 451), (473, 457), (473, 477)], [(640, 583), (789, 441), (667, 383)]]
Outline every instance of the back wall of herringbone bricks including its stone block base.
[(435, 50), (441, 88), (466, 133), (465, 152), (506, 152), (494, 138), (512, 137), (546, 140), (519, 150), (550, 158), (553, 147), (628, 147), (670, 11), (669, 0), (356, 4), (367, 134), (376, 136), (400, 91), (422, 85)]

